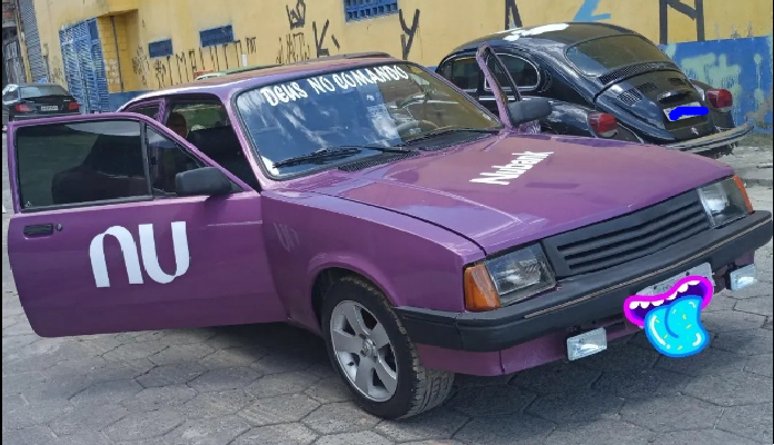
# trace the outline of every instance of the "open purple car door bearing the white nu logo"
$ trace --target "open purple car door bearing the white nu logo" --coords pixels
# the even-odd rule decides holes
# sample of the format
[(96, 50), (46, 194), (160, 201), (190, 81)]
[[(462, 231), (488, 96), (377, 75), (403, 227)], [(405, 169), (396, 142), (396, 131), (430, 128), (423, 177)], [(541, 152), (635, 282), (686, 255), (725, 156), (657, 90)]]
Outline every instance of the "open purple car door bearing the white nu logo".
[(8, 256), (38, 335), (286, 318), (260, 195), (151, 118), (13, 122), (8, 149)]

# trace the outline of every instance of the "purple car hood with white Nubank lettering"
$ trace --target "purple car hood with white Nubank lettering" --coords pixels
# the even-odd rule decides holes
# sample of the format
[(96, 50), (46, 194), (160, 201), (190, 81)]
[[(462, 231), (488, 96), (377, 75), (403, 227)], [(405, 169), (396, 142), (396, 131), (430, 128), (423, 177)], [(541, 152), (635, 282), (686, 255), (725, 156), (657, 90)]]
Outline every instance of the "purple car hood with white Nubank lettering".
[[(504, 168), (514, 159), (518, 161), (510, 169)], [(519, 175), (514, 165), (528, 169)], [(329, 170), (305, 182), (309, 191), (445, 227), (488, 255), (621, 216), (732, 174), (720, 162), (659, 147), (505, 134), (366, 170)]]

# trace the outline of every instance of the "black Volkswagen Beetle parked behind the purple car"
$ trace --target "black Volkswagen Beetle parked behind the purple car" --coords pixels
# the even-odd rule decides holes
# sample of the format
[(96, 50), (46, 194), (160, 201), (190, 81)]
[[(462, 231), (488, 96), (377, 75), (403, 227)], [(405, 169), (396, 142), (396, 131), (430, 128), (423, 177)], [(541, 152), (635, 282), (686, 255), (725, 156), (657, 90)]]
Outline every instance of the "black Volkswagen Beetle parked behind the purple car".
[[(688, 79), (645, 37), (607, 23), (553, 23), (482, 37), (446, 56), (436, 72), (496, 112), (476, 65), (489, 44), (518, 86), (510, 100), (545, 97), (553, 113), (544, 132), (638, 141), (710, 157), (730, 154), (753, 130), (736, 126), (728, 90)], [(507, 85), (507, 82), (503, 82)], [(708, 112), (672, 116), (676, 107)]]

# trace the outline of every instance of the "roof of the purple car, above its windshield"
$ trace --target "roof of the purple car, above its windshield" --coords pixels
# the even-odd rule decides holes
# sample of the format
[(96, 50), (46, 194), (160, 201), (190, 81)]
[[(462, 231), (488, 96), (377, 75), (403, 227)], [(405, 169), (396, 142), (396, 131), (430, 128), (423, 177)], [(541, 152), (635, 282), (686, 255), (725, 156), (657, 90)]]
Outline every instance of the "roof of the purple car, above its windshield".
[[(322, 57), (296, 63), (278, 65), (268, 68), (234, 72), (228, 76), (215, 76), (189, 83), (169, 87), (138, 96), (126, 105), (152, 98), (209, 93), (228, 98), (235, 90), (251, 89), (262, 85), (306, 77), (330, 69), (350, 69), (385, 61), (400, 61), (386, 52), (357, 52), (350, 55)], [(125, 106), (126, 106), (125, 105)]]

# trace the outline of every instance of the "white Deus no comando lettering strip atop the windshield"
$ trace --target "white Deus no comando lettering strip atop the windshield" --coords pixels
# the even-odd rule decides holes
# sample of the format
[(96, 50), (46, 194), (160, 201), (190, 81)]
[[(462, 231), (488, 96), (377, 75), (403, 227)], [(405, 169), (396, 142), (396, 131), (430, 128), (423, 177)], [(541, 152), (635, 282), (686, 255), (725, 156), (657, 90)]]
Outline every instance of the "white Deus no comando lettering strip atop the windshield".
[(260, 93), (270, 106), (276, 107), (280, 103), (306, 99), (312, 93), (320, 96), (350, 88), (406, 79), (409, 79), (408, 73), (397, 65), (391, 67), (370, 67), (312, 77), (297, 82), (264, 87), (260, 89)]

